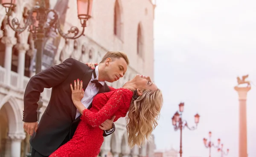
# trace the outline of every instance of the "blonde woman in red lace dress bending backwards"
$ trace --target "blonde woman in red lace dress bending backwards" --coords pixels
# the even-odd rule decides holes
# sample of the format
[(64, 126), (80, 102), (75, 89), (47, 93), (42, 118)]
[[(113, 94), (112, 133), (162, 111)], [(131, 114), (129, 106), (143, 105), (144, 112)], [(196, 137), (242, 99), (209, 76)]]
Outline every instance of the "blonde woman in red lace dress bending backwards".
[(103, 131), (99, 128), (106, 119), (116, 116), (114, 122), (125, 117), (128, 112), (128, 144), (142, 145), (157, 126), (157, 119), (163, 104), (161, 91), (149, 77), (136, 75), (122, 88), (97, 94), (90, 110), (84, 107), (82, 81), (70, 84), (72, 100), (82, 114), (81, 121), (73, 138), (58, 148), (49, 157), (96, 157), (104, 141)]

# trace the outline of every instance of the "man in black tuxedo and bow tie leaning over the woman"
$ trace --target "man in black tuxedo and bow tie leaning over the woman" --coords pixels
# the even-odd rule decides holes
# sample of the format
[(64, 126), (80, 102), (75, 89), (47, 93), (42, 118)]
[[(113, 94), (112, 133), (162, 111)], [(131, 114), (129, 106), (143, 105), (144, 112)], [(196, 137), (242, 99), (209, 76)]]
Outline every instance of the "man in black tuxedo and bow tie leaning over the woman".
[[(99, 66), (93, 70), (84, 63), (68, 58), (30, 78), (24, 93), (23, 128), (28, 134), (32, 134), (32, 157), (47, 157), (73, 137), (80, 121), (80, 113), (71, 99), (70, 84), (74, 80), (83, 81), (85, 92), (81, 102), (86, 108), (90, 108), (97, 93), (109, 91), (105, 81), (113, 82), (123, 77), (128, 64), (129, 60), (124, 53), (107, 52)], [(38, 125), (37, 102), (44, 88), (52, 88), (52, 93)], [(103, 136), (108, 136), (115, 130), (114, 125), (112, 127), (114, 118), (108, 119), (100, 127), (102, 130), (111, 128)], [(108, 125), (109, 122), (111, 123)]]

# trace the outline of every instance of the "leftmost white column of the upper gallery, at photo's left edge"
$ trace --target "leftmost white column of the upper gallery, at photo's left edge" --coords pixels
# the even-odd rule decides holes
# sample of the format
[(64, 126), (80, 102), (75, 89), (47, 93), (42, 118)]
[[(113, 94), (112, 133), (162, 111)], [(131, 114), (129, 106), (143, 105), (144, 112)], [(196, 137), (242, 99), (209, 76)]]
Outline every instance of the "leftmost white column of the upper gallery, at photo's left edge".
[(4, 67), (6, 69), (5, 82), (6, 85), (10, 85), (12, 70), (12, 47), (17, 43), (17, 39), (15, 37), (3, 37), (1, 42), (6, 46), (4, 58)]

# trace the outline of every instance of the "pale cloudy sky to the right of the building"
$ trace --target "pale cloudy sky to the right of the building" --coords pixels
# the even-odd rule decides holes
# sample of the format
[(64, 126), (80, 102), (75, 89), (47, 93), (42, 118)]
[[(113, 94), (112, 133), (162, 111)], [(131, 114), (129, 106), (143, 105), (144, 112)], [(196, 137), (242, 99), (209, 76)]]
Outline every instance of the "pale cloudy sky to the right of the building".
[[(183, 157), (208, 157), (203, 138), (212, 131), (228, 157), (238, 157), (239, 101), (237, 76), (249, 74), (247, 152), (256, 157), (256, 1), (157, 0), (154, 20), (154, 81), (164, 105), (154, 130), (157, 149), (179, 151), (180, 132), (172, 116), (184, 102), (183, 119), (195, 131), (183, 131)], [(212, 157), (220, 157), (216, 149)]]

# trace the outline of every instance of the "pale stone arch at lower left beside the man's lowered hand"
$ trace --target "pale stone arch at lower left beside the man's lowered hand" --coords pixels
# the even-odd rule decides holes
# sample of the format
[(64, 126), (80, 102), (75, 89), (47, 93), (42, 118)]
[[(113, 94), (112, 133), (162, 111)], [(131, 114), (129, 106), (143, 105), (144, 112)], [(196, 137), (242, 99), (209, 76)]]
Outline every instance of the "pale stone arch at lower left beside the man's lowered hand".
[(5, 96), (0, 102), (0, 109), (5, 108), (7, 111), (9, 121), (9, 134), (10, 133), (24, 133), (20, 108), (17, 101), (10, 95)]

